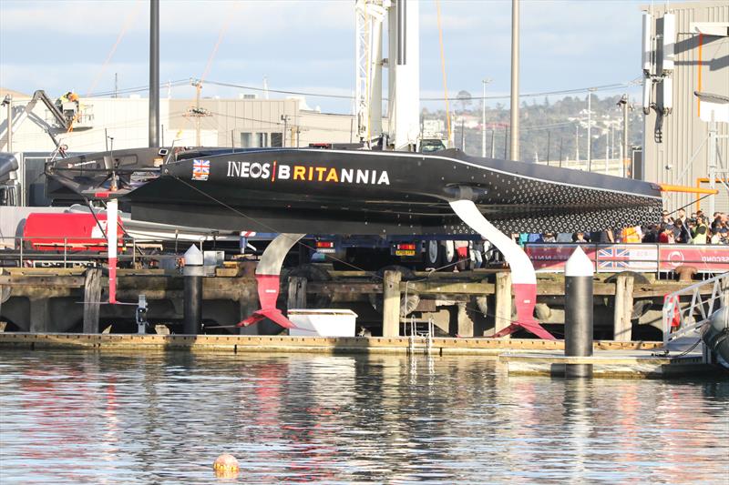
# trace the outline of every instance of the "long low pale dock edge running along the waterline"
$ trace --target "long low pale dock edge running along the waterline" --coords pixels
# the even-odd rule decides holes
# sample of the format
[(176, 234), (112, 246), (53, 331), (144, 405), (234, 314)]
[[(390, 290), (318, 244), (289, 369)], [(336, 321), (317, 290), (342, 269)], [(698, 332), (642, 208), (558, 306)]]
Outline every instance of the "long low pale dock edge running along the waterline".
[[(0, 333), (2, 349), (65, 349), (108, 352), (190, 351), (200, 354), (244, 353), (416, 354), (426, 353), (425, 338), (408, 337), (290, 337), (226, 335), (138, 335), (78, 333)], [(476, 355), (498, 359), (509, 374), (563, 376), (565, 364), (592, 364), (599, 378), (665, 379), (685, 376), (724, 376), (729, 373), (704, 365), (696, 354), (652, 355), (662, 342), (597, 340), (593, 357), (564, 357), (564, 340), (530, 338), (432, 338), (436, 356)], [(526, 351), (526, 353), (525, 353)]]

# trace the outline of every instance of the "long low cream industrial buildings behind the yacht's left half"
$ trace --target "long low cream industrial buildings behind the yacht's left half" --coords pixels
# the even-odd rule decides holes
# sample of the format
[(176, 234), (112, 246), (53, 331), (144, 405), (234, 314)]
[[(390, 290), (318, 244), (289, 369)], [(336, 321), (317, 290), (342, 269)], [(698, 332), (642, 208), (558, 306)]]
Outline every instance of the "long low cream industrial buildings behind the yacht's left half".
[[(0, 96), (5, 96), (0, 90)], [(104, 151), (112, 147), (143, 147), (148, 143), (149, 99), (81, 97), (81, 117), (71, 131), (54, 124), (41, 104), (25, 120), (18, 119), (32, 96), (11, 93), (12, 147), (8, 147), (7, 121), (0, 127), (0, 150), (51, 153), (56, 147), (50, 131), (69, 152)], [(239, 99), (163, 98), (159, 101), (160, 141), (176, 147), (306, 147), (310, 143), (349, 143), (355, 136), (353, 116), (321, 113), (303, 98)]]

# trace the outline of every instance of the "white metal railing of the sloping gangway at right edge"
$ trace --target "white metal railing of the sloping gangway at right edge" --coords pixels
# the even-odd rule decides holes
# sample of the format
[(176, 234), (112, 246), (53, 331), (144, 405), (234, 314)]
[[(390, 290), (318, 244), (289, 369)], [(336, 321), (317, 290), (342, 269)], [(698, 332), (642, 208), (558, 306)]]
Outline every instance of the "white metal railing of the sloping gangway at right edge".
[(729, 272), (666, 295), (663, 302), (663, 347), (682, 337), (701, 338), (701, 328), (729, 303)]

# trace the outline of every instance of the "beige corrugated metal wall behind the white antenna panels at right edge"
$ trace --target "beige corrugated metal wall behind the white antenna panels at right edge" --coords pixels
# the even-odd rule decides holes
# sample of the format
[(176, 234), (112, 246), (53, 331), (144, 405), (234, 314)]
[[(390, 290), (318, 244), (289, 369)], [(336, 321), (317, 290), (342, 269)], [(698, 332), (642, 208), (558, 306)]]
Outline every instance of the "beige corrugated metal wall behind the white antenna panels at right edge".
[[(643, 7), (649, 11), (650, 6)], [(729, 3), (691, 2), (671, 3), (668, 11), (676, 15), (675, 63), (673, 70), (673, 113), (662, 120), (662, 141), (656, 136), (658, 116), (654, 110), (644, 118), (643, 157), (645, 179), (664, 184), (697, 187), (699, 179), (707, 177), (708, 125), (698, 117), (698, 100), (693, 92), (699, 89), (699, 35), (691, 31), (693, 22), (729, 22)], [(662, 34), (665, 5), (654, 6), (652, 34)], [(703, 92), (729, 96), (729, 38), (703, 36)], [(659, 63), (660, 64), (660, 63)], [(653, 86), (653, 99), (662, 101), (660, 84)], [(656, 92), (658, 91), (658, 92)], [(729, 135), (729, 124), (717, 124), (719, 135)], [(719, 143), (724, 167), (729, 167), (729, 139)], [(717, 188), (726, 192), (726, 187)], [(676, 209), (691, 204), (696, 196), (671, 194), (664, 198), (665, 207)], [(715, 199), (715, 209), (729, 212), (729, 197), (721, 194)], [(708, 207), (706, 200), (702, 207)], [(695, 204), (688, 207), (695, 210)]]

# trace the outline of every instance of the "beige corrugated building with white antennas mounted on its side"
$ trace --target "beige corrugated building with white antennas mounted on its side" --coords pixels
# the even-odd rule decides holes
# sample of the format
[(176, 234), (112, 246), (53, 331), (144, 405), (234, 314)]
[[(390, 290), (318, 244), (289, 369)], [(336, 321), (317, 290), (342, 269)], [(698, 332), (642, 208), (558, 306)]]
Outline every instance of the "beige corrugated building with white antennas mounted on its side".
[(703, 199), (673, 193), (669, 209), (729, 212), (729, 4), (666, 2), (642, 10), (642, 178), (719, 190)]

